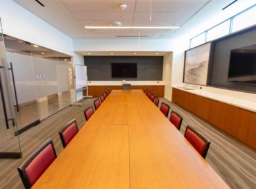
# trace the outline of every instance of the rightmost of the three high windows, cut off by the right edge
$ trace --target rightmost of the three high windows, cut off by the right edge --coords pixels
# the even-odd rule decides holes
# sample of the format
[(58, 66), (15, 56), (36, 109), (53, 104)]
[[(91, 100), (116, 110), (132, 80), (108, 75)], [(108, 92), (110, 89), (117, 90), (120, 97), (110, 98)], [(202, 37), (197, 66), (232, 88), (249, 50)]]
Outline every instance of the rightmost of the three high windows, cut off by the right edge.
[(256, 7), (250, 8), (246, 12), (241, 13), (234, 17), (232, 32), (247, 28), (248, 26), (253, 26), (256, 24)]

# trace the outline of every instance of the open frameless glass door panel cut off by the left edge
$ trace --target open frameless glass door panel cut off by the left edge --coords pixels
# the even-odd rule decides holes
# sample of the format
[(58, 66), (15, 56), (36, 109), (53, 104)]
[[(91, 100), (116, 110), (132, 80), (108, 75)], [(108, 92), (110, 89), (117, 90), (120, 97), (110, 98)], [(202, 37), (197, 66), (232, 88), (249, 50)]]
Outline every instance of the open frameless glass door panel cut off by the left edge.
[(6, 60), (6, 49), (0, 19), (0, 158), (21, 158), (22, 151), (15, 120), (15, 94)]

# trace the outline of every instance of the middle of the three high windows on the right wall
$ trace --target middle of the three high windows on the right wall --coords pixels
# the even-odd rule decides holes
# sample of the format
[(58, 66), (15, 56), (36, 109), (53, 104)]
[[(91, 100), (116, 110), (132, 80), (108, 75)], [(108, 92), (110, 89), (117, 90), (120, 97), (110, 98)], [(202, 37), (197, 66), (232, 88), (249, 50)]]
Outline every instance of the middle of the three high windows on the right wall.
[(230, 33), (230, 20), (224, 21), (223, 23), (211, 28), (207, 31), (207, 42), (210, 42), (214, 39), (228, 35)]

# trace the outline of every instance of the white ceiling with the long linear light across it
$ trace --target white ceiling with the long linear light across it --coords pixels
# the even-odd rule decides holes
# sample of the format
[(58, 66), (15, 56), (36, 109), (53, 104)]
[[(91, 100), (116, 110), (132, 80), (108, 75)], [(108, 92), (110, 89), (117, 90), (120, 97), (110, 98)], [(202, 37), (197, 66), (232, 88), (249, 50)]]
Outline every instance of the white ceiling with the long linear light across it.
[[(138, 35), (138, 30), (85, 29), (84, 26), (182, 26), (210, 0), (13, 0), (71, 38), (109, 39)], [(126, 3), (127, 8), (119, 8)], [(177, 29), (140, 30), (146, 38), (169, 38)], [(123, 37), (127, 38), (127, 37)]]

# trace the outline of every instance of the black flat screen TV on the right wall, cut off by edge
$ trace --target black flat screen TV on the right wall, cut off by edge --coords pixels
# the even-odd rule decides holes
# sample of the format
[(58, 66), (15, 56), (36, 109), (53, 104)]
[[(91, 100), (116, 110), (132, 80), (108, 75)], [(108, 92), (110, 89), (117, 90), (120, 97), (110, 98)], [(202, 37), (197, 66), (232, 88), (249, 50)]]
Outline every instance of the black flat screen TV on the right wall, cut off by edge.
[(256, 84), (256, 45), (231, 50), (228, 82)]

